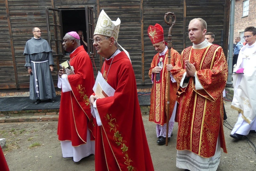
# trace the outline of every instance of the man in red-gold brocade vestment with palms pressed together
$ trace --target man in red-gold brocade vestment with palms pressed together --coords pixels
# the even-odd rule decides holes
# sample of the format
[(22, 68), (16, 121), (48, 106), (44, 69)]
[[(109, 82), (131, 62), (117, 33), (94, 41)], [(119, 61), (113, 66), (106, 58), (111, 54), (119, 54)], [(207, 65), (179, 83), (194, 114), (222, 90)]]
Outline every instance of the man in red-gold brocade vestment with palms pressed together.
[(222, 107), (227, 62), (222, 47), (204, 38), (206, 32), (202, 18), (190, 21), (193, 46), (181, 53), (183, 69), (171, 70), (180, 83), (176, 166), (191, 171), (216, 170), (221, 147), (227, 152)]

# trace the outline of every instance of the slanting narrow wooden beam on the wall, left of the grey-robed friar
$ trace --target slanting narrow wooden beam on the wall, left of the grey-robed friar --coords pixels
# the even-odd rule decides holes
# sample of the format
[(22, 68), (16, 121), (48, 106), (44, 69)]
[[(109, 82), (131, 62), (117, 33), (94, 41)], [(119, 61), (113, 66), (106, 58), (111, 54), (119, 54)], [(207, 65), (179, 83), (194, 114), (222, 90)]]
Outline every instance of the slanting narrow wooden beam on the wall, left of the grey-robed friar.
[(14, 53), (14, 45), (13, 45), (13, 37), (12, 37), (12, 26), (11, 26), (8, 0), (5, 0), (5, 8), (6, 8), (6, 15), (7, 15), (7, 21), (8, 21), (9, 34), (10, 34), (10, 44), (11, 44), (11, 51), (12, 51), (12, 60), (13, 60), (15, 83), (16, 83), (16, 88), (19, 89), (19, 81), (18, 81), (15, 53)]

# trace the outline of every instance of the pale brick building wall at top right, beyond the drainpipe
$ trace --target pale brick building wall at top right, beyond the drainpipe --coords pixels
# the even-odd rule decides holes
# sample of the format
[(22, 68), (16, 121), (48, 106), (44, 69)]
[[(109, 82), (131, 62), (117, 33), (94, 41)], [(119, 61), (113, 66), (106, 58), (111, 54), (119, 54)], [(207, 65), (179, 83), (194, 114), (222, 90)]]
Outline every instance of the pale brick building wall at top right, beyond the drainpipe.
[[(246, 27), (256, 27), (256, 0), (249, 0), (249, 13), (248, 16), (245, 17), (243, 17), (243, 1), (244, 0), (236, 0), (234, 38), (240, 37), (240, 32), (243, 32)], [(243, 41), (243, 38), (241, 38), (241, 41)]]

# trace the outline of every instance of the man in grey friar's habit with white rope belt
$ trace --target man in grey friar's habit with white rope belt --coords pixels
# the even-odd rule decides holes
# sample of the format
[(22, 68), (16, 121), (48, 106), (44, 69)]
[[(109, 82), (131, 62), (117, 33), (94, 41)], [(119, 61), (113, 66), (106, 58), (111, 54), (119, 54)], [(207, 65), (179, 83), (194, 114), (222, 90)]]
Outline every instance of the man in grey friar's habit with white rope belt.
[(41, 29), (32, 29), (33, 38), (27, 41), (24, 49), (26, 56), (25, 67), (30, 74), (29, 97), (36, 100), (34, 103), (41, 103), (42, 99), (55, 102), (55, 88), (51, 71), (53, 71), (54, 61), (52, 49), (48, 42), (41, 38)]

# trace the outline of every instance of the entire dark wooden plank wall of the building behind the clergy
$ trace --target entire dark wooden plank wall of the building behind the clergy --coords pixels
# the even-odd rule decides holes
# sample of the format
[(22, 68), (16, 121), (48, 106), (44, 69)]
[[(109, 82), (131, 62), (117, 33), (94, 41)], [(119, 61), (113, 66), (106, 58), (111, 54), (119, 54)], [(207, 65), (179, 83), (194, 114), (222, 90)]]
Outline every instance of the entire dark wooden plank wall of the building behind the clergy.
[[(0, 0), (0, 89), (29, 88), (29, 74), (23, 55), (26, 42), (33, 37), (32, 27), (40, 27), (42, 38), (47, 40), (45, 7), (65, 9), (83, 8), (95, 5), (97, 22), (98, 12), (102, 9), (112, 20), (121, 20), (118, 43), (129, 53), (138, 86), (151, 86), (148, 77), (153, 56), (156, 54), (147, 35), (149, 25), (156, 23), (163, 26), (165, 40), (168, 40), (169, 26), (164, 22), (164, 15), (173, 12), (176, 23), (172, 29), (172, 45), (179, 53), (190, 46), (188, 24), (193, 18), (201, 17), (208, 24), (208, 31), (215, 34), (215, 44), (227, 46), (229, 17), (225, 16), (225, 2), (228, 0)], [(229, 9), (229, 4), (226, 4)], [(226, 15), (229, 10), (226, 10)], [(227, 19), (225, 21), (225, 18)], [(221, 39), (222, 30), (223, 41)], [(67, 60), (68, 56), (61, 58)], [(104, 59), (104, 58), (103, 58)], [(56, 61), (56, 59), (55, 59)], [(96, 68), (100, 70), (99, 56)], [(53, 80), (57, 85), (57, 67)]]

